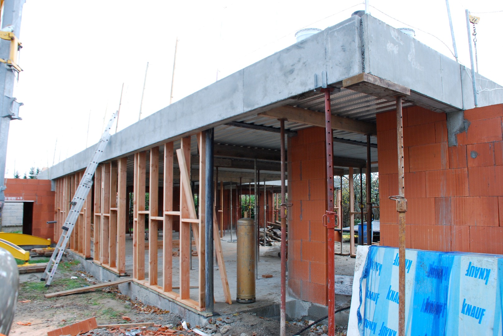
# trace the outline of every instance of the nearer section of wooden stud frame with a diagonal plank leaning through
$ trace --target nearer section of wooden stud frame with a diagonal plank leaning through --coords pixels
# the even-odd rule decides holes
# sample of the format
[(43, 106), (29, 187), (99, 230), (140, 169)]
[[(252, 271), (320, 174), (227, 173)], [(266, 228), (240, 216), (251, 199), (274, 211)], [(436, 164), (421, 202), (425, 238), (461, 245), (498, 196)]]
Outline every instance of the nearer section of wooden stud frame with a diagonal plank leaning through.
[[(205, 134), (197, 135), (199, 147), (199, 181), (205, 181)], [(134, 170), (134, 214), (133, 214), (133, 279), (135, 282), (148, 287), (154, 291), (181, 302), (198, 311), (205, 309), (205, 199), (199, 197), (198, 209), (196, 210), (194, 198), (191, 190), (190, 178), (190, 137), (181, 139), (181, 148), (176, 151), (177, 161), (180, 167), (180, 211), (173, 208), (173, 178), (175, 152), (173, 142), (164, 144), (164, 171), (163, 171), (163, 195), (162, 211), (159, 211), (158, 179), (159, 179), (159, 149), (154, 147), (150, 149), (149, 166), (149, 207), (145, 210), (145, 180), (146, 180), (146, 153), (135, 154)], [(205, 194), (204, 182), (199, 184), (199, 195)], [(159, 215), (159, 212), (162, 215)], [(148, 214), (148, 232), (150, 239), (148, 243), (148, 274), (145, 275), (145, 215)], [(180, 218), (180, 276), (176, 280), (178, 286), (174, 286), (173, 281), (173, 219), (174, 216)], [(162, 241), (157, 241), (157, 231), (162, 228)], [(191, 258), (191, 230), (196, 243), (198, 255), (197, 279), (198, 293), (197, 297), (191, 297), (190, 289), (190, 258)], [(217, 260), (222, 283), (224, 286), (225, 301), (232, 303), (227, 282), (225, 265), (223, 264), (223, 255), (221, 253), (220, 236), (218, 223), (215, 220), (214, 225), (215, 250), (217, 251)], [(158, 280), (159, 260), (157, 249), (162, 247), (162, 279)], [(179, 291), (174, 291), (179, 289)]]

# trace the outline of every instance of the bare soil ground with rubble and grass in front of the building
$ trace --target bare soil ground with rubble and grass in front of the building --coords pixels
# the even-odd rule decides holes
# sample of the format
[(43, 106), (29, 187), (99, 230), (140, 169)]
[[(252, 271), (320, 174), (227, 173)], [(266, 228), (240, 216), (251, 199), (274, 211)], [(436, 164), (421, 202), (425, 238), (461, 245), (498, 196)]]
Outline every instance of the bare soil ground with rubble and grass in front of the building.
[[(74, 261), (61, 263), (58, 276), (46, 289), (40, 281), (41, 273), (24, 275), (20, 284), (16, 315), (10, 335), (41, 336), (48, 331), (83, 320), (96, 317), (98, 325), (114, 323), (154, 322), (152, 327), (93, 329), (86, 335), (196, 335), (191, 328), (197, 328), (214, 336), (258, 336), (279, 335), (280, 323), (272, 318), (264, 318), (251, 313), (234, 313), (213, 316), (206, 325), (190, 325), (189, 330), (182, 326), (180, 317), (156, 307), (132, 301), (122, 295), (117, 288), (98, 289), (92, 292), (72, 294), (46, 299), (45, 293), (88, 286), (94, 278), (83, 271)], [(71, 277), (76, 277), (71, 278)], [(18, 324), (21, 323), (21, 324)], [(326, 322), (326, 320), (325, 320)], [(29, 325), (24, 325), (29, 324)], [(307, 321), (288, 321), (286, 334), (295, 335), (306, 326)], [(175, 330), (171, 333), (168, 329)], [(326, 325), (317, 324), (302, 335), (326, 334)], [(336, 335), (346, 335), (346, 326), (338, 326)]]

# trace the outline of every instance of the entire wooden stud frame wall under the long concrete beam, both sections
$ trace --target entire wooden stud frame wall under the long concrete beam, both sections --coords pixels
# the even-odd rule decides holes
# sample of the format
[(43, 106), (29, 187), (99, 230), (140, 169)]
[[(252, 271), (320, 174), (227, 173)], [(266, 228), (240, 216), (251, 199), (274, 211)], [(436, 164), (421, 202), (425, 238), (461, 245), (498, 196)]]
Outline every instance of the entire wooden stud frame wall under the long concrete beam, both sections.
[[(193, 309), (205, 309), (205, 134), (197, 134), (199, 148), (199, 199), (195, 207), (191, 189), (191, 138), (181, 140), (181, 148), (174, 151), (173, 142), (164, 144), (164, 171), (162, 188), (162, 209), (159, 209), (159, 148), (150, 149), (149, 166), (149, 206), (145, 206), (146, 193), (146, 154), (134, 154), (133, 182), (133, 279), (136, 283), (153, 289), (163, 295), (181, 302)], [(173, 207), (174, 162), (175, 156), (180, 167), (180, 210)], [(82, 208), (75, 231), (71, 238), (73, 251), (118, 275), (125, 275), (125, 237), (126, 237), (126, 177), (127, 158), (101, 163), (95, 173), (94, 203), (89, 193)], [(69, 202), (82, 177), (82, 172), (59, 178), (56, 181), (56, 201), (54, 237), (61, 234), (60, 227), (66, 218)], [(93, 207), (91, 207), (93, 205)], [(145, 256), (145, 224), (148, 215), (148, 258)], [(180, 218), (180, 278), (179, 285), (173, 281), (173, 247), (172, 239), (174, 216)], [(232, 303), (223, 253), (220, 242), (219, 220), (214, 212), (213, 218), (214, 247), (219, 264), (225, 301)], [(162, 228), (162, 241), (157, 241), (157, 232)], [(196, 243), (198, 268), (197, 297), (191, 297), (190, 258), (191, 230)], [(162, 248), (162, 261), (158, 260), (158, 249)], [(91, 249), (93, 254), (91, 255)], [(148, 260), (147, 272), (145, 259)], [(158, 270), (162, 270), (159, 282)], [(174, 291), (179, 289), (179, 291)]]

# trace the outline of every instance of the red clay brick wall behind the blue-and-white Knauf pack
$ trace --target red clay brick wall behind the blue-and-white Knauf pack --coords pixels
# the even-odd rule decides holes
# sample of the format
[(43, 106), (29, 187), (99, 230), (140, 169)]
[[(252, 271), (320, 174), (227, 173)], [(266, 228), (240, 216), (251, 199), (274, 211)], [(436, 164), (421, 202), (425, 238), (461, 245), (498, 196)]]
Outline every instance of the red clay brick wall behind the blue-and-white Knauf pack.
[[(503, 105), (465, 111), (448, 147), (446, 115), (403, 110), (407, 248), (503, 254)], [(395, 112), (377, 115), (381, 245), (397, 246)]]

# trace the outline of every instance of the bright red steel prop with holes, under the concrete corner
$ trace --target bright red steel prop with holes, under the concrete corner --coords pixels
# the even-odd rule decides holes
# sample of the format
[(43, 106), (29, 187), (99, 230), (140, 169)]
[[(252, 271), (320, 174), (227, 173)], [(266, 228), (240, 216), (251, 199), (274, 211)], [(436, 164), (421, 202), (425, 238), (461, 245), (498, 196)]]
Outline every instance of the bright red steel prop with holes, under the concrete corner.
[[(330, 91), (332, 89), (323, 88), (325, 93), (325, 148), (326, 148), (326, 200), (327, 210), (323, 217), (326, 217), (326, 253), (327, 253), (327, 272), (328, 278), (328, 336), (335, 334), (335, 265), (334, 265), (334, 240), (335, 240), (335, 221), (336, 214), (333, 212), (333, 135), (330, 111)], [(324, 220), (325, 221), (325, 220)]]

